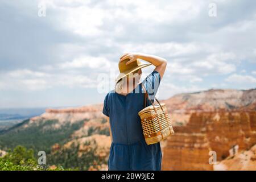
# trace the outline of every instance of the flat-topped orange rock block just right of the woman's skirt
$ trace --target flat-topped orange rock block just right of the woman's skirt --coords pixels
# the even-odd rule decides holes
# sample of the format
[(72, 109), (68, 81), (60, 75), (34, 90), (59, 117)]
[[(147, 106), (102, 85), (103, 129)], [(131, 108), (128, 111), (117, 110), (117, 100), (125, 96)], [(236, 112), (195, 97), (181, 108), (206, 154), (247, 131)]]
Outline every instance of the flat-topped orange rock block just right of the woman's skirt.
[(205, 134), (176, 133), (167, 138), (163, 150), (163, 170), (212, 170), (209, 142)]

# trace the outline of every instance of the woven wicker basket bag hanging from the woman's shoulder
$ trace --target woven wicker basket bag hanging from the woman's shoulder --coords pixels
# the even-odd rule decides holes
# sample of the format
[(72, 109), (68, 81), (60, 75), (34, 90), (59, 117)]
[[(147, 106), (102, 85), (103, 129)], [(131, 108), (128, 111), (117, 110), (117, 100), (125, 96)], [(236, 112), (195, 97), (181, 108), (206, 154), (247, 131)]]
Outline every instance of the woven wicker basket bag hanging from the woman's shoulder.
[[(148, 98), (148, 93), (142, 85), (144, 90), (144, 109), (139, 111), (139, 117), (141, 117), (141, 124), (143, 129), (143, 135), (146, 143), (154, 144), (158, 143), (163, 139), (166, 139), (169, 135), (174, 134), (174, 129), (172, 128), (171, 118), (167, 112), (166, 104), (160, 104), (160, 102), (155, 98), (158, 104), (154, 105)], [(146, 107), (146, 101), (150, 100), (150, 106)]]

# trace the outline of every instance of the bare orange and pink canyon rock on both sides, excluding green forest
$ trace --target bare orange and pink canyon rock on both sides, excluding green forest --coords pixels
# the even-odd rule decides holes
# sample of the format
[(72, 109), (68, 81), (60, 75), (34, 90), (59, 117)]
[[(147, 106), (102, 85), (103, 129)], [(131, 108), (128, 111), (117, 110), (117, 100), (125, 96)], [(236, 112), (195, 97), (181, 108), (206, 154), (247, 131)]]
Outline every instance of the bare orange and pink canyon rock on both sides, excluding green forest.
[[(161, 102), (166, 104), (175, 130), (175, 135), (161, 142), (163, 170), (256, 170), (256, 89), (211, 89), (177, 94)], [(47, 109), (18, 129), (45, 123), (40, 131), (61, 131), (81, 122), (82, 125), (68, 135), (67, 141), (52, 144), (51, 153), (72, 149), (73, 143), (79, 144), (79, 155), (96, 147), (95, 155), (104, 164), (89, 169), (107, 169), (111, 140), (102, 107), (98, 104)], [(51, 125), (48, 121), (52, 121)], [(216, 154), (214, 165), (209, 163), (211, 152)]]

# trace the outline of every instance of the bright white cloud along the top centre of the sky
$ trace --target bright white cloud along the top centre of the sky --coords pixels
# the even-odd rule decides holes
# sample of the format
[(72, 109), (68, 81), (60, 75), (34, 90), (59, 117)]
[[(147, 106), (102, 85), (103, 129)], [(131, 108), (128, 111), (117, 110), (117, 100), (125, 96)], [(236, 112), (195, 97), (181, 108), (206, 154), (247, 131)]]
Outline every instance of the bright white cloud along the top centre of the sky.
[[(200, 14), (203, 1), (173, 1), (167, 3), (135, 1), (47, 1), (47, 8), (58, 11), (55, 26), (85, 37), (104, 35), (105, 21), (125, 23), (174, 23), (186, 22)], [(111, 24), (113, 26), (113, 24)], [(123, 27), (114, 26), (121, 31)], [(118, 28), (119, 27), (119, 28)], [(125, 26), (126, 27), (126, 26)], [(108, 27), (107, 27), (108, 28)]]

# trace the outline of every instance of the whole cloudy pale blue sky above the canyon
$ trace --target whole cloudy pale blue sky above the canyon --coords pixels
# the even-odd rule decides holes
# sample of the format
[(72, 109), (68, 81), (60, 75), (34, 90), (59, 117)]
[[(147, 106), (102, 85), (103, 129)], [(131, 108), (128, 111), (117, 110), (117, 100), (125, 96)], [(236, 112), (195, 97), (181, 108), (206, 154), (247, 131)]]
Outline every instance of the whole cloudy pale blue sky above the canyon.
[(102, 103), (125, 52), (168, 61), (160, 99), (256, 85), (254, 1), (2, 0), (0, 27), (0, 108)]

